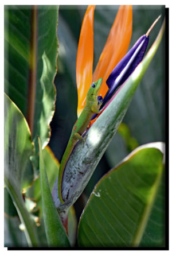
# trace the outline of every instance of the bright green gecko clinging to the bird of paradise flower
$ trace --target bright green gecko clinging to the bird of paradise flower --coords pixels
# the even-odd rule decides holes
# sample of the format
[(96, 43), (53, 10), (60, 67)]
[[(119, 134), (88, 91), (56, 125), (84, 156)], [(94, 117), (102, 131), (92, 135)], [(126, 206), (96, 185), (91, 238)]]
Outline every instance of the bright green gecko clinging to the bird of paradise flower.
[(91, 87), (89, 88), (87, 92), (85, 107), (83, 108), (83, 111), (75, 122), (75, 125), (73, 126), (71, 137), (69, 138), (67, 148), (65, 149), (64, 155), (62, 157), (58, 173), (58, 197), (61, 203), (64, 203), (61, 195), (61, 183), (64, 169), (77, 141), (79, 139), (83, 139), (82, 134), (84, 133), (85, 129), (87, 129), (87, 126), (89, 125), (93, 114), (99, 114), (99, 108), (101, 106), (101, 103), (98, 104), (97, 95), (99, 94), (101, 83), (102, 78), (97, 80), (95, 83), (92, 83)]

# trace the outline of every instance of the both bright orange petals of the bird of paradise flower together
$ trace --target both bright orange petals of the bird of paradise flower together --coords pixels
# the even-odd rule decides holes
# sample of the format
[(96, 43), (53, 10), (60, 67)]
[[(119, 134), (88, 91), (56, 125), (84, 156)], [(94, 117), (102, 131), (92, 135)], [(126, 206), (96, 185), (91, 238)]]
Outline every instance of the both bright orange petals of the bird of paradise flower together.
[(92, 73), (94, 11), (95, 6), (88, 6), (83, 18), (77, 49), (76, 83), (78, 92), (78, 117), (84, 108), (86, 95), (92, 82), (102, 77), (103, 82), (100, 94), (102, 97), (106, 94), (108, 87), (105, 82), (116, 64), (126, 55), (132, 34), (132, 6), (120, 6), (95, 71)]

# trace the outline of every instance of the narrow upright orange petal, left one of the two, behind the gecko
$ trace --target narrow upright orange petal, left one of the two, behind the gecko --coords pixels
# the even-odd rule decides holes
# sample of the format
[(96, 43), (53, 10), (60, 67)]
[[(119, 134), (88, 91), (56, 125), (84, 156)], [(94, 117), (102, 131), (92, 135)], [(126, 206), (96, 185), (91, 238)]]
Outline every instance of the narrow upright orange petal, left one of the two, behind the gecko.
[(81, 26), (76, 58), (76, 83), (78, 92), (77, 113), (80, 115), (92, 82), (93, 65), (93, 14), (95, 6), (89, 5)]

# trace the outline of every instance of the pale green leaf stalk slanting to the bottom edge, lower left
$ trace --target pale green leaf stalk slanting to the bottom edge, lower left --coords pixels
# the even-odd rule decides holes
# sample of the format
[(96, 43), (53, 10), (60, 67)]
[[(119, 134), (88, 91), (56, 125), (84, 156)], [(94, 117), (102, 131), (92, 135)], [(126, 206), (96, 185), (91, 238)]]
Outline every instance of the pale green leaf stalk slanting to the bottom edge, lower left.
[(11, 185), (9, 180), (5, 177), (5, 185), (11, 195), (11, 198), (13, 199), (13, 203), (17, 209), (19, 219), (21, 222), (25, 225), (25, 235), (26, 240), (28, 242), (29, 247), (37, 247), (38, 246), (38, 238), (36, 234), (36, 228), (34, 227), (33, 220), (29, 216), (29, 212), (26, 210), (24, 201), (22, 199), (22, 196), (19, 195), (14, 189), (14, 184)]

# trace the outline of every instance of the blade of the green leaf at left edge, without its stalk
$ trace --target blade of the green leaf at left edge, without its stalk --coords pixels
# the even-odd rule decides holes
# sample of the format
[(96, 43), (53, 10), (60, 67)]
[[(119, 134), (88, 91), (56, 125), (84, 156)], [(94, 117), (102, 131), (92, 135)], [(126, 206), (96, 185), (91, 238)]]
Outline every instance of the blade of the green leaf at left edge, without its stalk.
[(5, 176), (19, 192), (33, 182), (29, 157), (34, 146), (28, 123), (18, 107), (5, 94)]

